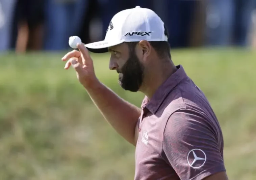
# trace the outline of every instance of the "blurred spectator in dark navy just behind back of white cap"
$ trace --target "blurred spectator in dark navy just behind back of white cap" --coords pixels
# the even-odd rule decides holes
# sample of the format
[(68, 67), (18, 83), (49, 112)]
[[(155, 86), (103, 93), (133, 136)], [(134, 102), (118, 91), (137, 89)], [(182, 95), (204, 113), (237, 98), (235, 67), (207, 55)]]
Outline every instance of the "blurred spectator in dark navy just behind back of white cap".
[(188, 47), (197, 0), (153, 0), (155, 12), (169, 31), (172, 48)]

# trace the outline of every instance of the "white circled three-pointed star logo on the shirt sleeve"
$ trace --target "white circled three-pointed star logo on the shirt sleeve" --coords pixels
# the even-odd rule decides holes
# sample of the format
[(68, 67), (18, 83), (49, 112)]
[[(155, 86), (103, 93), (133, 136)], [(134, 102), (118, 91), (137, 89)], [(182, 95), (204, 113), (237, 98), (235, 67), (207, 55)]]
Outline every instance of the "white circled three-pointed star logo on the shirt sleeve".
[(187, 154), (187, 163), (191, 168), (201, 168), (206, 161), (206, 154), (201, 149), (192, 149)]

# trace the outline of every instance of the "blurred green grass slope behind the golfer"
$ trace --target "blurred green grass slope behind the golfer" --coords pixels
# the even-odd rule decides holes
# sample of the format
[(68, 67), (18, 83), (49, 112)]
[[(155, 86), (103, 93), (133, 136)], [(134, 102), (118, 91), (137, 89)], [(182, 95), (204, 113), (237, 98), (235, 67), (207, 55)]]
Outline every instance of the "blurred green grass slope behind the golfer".
[[(1, 56), (1, 180), (131, 180), (134, 150), (102, 118), (63, 53)], [(142, 93), (123, 91), (108, 55), (92, 54), (99, 79), (137, 106)], [(232, 180), (256, 179), (256, 53), (245, 49), (173, 50), (176, 65), (210, 101), (224, 134)]]

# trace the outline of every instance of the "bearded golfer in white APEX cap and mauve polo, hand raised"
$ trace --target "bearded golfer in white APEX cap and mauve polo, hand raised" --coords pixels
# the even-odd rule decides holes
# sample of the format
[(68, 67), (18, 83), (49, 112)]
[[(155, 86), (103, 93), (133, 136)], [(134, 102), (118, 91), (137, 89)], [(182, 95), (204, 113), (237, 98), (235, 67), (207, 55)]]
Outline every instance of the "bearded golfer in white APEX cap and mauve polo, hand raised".
[[(104, 118), (136, 146), (135, 180), (227, 180), (220, 124), (203, 92), (172, 62), (167, 40), (160, 17), (136, 6), (113, 16), (104, 41), (77, 44), (62, 61), (75, 69)], [(87, 49), (110, 52), (109, 69), (122, 88), (145, 94), (141, 108), (97, 79)]]

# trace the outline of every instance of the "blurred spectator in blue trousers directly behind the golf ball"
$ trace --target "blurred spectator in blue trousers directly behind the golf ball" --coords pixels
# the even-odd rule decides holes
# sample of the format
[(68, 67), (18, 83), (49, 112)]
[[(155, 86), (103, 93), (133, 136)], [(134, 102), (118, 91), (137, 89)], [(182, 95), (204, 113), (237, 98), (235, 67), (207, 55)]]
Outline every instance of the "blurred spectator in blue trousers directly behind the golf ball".
[(78, 35), (88, 0), (45, 0), (45, 50), (69, 48), (69, 37)]

